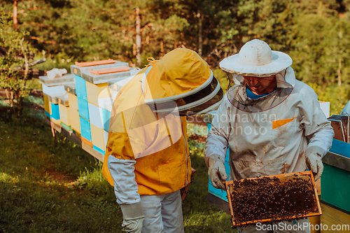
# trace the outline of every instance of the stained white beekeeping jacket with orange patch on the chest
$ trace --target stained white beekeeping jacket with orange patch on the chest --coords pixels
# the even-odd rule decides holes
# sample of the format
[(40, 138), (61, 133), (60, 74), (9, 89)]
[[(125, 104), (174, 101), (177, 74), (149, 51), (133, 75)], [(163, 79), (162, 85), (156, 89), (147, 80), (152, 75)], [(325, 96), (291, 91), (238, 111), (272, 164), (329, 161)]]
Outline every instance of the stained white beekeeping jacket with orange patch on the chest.
[(308, 147), (325, 155), (332, 145), (333, 130), (314, 90), (295, 80), (290, 66), (276, 79), (276, 90), (253, 100), (236, 75), (211, 123), (204, 155), (224, 161), (230, 146), (230, 180), (305, 171)]

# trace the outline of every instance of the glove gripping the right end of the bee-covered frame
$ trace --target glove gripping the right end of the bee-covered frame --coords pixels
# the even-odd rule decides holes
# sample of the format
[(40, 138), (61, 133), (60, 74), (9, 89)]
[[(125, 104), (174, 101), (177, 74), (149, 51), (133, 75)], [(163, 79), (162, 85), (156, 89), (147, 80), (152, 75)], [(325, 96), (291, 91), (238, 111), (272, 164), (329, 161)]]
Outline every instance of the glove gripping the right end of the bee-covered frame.
[(310, 146), (306, 150), (307, 167), (314, 173), (314, 179), (317, 181), (323, 172), (322, 157), (324, 150), (318, 146)]

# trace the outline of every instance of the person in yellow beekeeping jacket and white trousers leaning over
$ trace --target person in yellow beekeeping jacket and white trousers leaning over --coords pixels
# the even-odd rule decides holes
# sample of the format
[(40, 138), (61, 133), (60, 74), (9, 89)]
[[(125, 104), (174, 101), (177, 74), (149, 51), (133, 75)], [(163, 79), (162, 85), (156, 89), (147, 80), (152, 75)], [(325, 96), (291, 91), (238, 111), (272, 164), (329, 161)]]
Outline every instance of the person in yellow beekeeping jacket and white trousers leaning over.
[(125, 232), (183, 232), (180, 189), (190, 183), (186, 115), (216, 109), (223, 91), (207, 62), (177, 48), (125, 85), (113, 103), (102, 172)]

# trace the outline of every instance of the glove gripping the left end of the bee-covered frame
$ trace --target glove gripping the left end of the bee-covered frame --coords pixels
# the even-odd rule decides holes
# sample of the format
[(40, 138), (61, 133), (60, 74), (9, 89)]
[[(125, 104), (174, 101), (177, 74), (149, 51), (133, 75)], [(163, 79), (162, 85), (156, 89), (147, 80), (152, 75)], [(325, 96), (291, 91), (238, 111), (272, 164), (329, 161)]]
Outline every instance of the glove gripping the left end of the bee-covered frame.
[(209, 166), (208, 175), (214, 188), (226, 190), (223, 181), (228, 178), (228, 175), (226, 174), (225, 165), (220, 155), (210, 155), (207, 157), (207, 161)]

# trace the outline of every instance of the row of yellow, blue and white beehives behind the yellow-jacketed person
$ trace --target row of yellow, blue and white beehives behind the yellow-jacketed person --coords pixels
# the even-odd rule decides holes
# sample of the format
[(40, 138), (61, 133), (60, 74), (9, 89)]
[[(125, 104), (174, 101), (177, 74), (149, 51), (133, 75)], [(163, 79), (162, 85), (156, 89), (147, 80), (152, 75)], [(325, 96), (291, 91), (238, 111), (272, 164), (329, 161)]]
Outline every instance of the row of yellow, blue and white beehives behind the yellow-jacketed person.
[(104, 155), (113, 100), (136, 72), (126, 62), (109, 59), (76, 62), (62, 77), (41, 76), (45, 115)]

